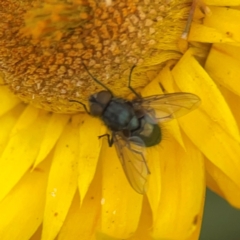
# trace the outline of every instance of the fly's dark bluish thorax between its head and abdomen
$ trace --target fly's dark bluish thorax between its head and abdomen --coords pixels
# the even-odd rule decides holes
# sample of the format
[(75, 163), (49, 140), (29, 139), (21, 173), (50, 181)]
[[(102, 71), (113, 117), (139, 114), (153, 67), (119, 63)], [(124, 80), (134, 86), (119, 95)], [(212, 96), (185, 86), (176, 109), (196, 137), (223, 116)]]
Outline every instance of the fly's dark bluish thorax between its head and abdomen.
[(103, 112), (102, 120), (112, 131), (132, 131), (139, 127), (133, 107), (122, 98), (112, 98)]

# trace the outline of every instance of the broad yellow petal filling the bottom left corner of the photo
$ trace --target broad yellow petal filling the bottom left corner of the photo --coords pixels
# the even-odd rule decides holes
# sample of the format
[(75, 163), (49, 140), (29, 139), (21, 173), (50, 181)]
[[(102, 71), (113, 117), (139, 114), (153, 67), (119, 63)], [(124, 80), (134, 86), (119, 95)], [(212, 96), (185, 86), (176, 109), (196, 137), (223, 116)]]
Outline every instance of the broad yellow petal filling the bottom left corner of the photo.
[(50, 161), (28, 172), (0, 203), (0, 239), (29, 239), (42, 222)]

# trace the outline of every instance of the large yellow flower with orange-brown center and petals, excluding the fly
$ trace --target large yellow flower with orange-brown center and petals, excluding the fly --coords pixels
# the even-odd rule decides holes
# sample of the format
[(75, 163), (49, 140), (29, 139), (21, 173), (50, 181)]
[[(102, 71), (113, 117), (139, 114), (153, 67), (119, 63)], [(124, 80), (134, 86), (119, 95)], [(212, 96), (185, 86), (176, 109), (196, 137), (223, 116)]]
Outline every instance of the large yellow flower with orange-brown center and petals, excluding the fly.
[[(205, 188), (240, 208), (239, 1), (0, 0), (0, 239), (199, 237)], [(226, 7), (227, 6), (227, 7)], [(185, 32), (184, 32), (185, 33)], [(129, 185), (106, 126), (84, 111), (120, 97), (190, 92), (191, 114), (161, 125), (151, 175)]]

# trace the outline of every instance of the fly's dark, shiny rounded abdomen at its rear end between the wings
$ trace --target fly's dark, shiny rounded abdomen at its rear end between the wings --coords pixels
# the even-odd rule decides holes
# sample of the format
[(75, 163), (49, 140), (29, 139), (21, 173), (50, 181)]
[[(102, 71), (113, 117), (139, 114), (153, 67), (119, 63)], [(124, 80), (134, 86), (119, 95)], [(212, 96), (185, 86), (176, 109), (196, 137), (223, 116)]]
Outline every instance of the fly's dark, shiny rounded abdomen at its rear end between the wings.
[(162, 132), (159, 125), (147, 114), (140, 119), (140, 127), (132, 132), (132, 136), (140, 137), (146, 147), (155, 146), (162, 140)]

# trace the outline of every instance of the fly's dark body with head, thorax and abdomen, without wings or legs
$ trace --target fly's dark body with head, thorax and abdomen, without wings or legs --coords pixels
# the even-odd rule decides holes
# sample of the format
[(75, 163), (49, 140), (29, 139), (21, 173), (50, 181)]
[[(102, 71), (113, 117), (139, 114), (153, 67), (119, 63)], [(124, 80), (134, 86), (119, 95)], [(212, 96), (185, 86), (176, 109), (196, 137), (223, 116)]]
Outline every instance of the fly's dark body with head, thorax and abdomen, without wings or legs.
[(162, 134), (157, 122), (143, 109), (135, 109), (132, 102), (101, 91), (90, 96), (89, 103), (90, 113), (100, 117), (111, 131), (121, 131), (126, 138), (139, 137), (146, 147), (160, 143)]

